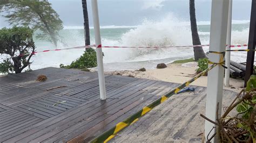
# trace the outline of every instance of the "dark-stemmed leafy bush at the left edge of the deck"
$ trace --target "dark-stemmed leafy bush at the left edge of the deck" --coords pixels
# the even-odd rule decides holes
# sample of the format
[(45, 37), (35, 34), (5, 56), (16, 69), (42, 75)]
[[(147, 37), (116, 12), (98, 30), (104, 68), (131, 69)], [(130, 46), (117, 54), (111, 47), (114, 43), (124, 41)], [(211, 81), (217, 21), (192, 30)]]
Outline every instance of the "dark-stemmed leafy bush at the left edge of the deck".
[[(0, 72), (2, 73), (21, 73), (26, 67), (30, 70), (30, 62), (32, 54), (35, 52), (36, 46), (33, 42), (33, 30), (29, 27), (16, 27), (0, 30), (0, 54), (9, 55), (8, 58), (0, 63)], [(25, 56), (19, 56), (25, 55)], [(18, 56), (18, 57), (15, 57)]]

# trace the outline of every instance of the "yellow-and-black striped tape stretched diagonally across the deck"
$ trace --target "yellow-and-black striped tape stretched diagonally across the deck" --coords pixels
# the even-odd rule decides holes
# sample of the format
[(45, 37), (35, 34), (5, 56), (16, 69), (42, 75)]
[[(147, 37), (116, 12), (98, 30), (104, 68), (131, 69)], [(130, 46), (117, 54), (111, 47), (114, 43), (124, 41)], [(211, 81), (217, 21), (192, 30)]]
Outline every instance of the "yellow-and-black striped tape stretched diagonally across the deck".
[(167, 93), (165, 96), (160, 97), (159, 99), (153, 101), (153, 103), (143, 107), (141, 110), (139, 110), (138, 112), (136, 112), (135, 114), (131, 115), (129, 118), (127, 118), (126, 120), (119, 122), (116, 126), (112, 127), (110, 130), (104, 132), (103, 134), (99, 135), (97, 138), (91, 140), (91, 142), (107, 142), (110, 141), (112, 138), (114, 138), (114, 136), (122, 131), (124, 128), (126, 128), (127, 126), (132, 125), (134, 122), (138, 121), (140, 117), (143, 117), (143, 115), (145, 115), (146, 113), (148, 113), (149, 111), (151, 111), (154, 107), (160, 105), (161, 103), (164, 103), (164, 101), (166, 101), (168, 98), (170, 98), (173, 94), (176, 94), (177, 92), (179, 92), (182, 88), (187, 87), (188, 85), (190, 85), (194, 80), (197, 80), (199, 77), (203, 76), (206, 72), (210, 71), (213, 69), (213, 67), (217, 66), (218, 64), (222, 64), (222, 63), (214, 63), (213, 65), (211, 65), (210, 67), (208, 67), (208, 69), (206, 69), (205, 71), (197, 74), (196, 77), (188, 80), (186, 83), (181, 84), (180, 86), (178, 86), (177, 88), (174, 88), (172, 91), (170, 91), (169, 93)]

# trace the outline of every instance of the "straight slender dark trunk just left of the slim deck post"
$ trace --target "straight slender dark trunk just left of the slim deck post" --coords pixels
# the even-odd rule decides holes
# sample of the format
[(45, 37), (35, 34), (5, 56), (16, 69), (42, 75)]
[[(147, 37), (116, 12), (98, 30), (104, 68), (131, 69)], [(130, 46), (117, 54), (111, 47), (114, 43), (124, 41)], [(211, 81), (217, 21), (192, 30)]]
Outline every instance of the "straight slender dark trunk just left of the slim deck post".
[(89, 28), (89, 18), (87, 11), (87, 3), (86, 0), (82, 0), (83, 13), (84, 13), (84, 40), (85, 45), (90, 45), (90, 28)]

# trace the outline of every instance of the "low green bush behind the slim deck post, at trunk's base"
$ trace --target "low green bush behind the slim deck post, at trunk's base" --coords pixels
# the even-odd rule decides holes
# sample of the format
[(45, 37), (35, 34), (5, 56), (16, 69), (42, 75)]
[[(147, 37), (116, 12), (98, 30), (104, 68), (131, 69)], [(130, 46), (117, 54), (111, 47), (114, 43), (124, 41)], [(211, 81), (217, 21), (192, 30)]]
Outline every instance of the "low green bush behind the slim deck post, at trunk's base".
[(59, 66), (61, 68), (66, 68), (66, 69), (87, 69), (89, 67), (96, 67), (97, 66), (96, 51), (95, 49), (92, 49), (92, 48), (86, 49), (84, 54), (77, 60), (73, 61), (70, 65), (64, 66), (63, 64), (60, 64)]

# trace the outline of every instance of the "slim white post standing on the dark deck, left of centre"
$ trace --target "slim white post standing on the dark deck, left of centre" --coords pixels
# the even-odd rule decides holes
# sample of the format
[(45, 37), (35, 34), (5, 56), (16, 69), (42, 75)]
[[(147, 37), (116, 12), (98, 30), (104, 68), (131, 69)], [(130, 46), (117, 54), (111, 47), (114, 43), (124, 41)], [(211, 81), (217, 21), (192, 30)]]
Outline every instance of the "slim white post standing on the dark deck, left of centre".
[(97, 52), (97, 64), (98, 64), (98, 75), (99, 75), (99, 92), (100, 99), (106, 99), (106, 88), (105, 88), (105, 77), (103, 67), (103, 54), (102, 54), (102, 40), (100, 39), (100, 28), (99, 28), (99, 12), (98, 12), (98, 1), (91, 0), (92, 2), (92, 15), (93, 15), (93, 26), (95, 31), (95, 43)]

